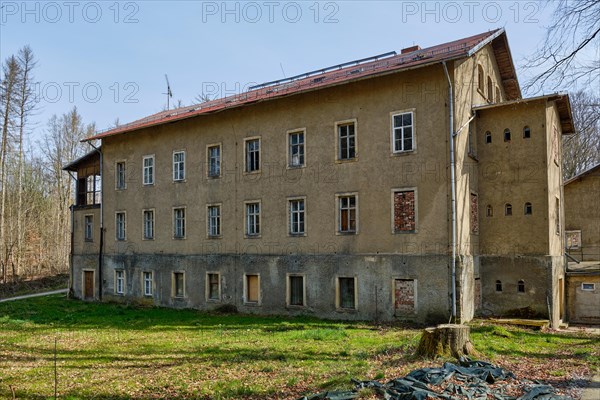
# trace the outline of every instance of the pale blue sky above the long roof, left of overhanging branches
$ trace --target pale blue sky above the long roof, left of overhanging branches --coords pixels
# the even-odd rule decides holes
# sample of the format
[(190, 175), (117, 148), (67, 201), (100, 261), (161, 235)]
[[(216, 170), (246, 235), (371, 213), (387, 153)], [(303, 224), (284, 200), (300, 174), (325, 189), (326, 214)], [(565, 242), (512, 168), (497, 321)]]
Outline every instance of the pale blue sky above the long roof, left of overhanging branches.
[[(537, 1), (0, 1), (2, 60), (38, 59), (36, 134), (76, 105), (109, 127), (302, 72), (504, 27), (519, 79), (551, 9)], [(529, 72), (531, 73), (531, 72)]]

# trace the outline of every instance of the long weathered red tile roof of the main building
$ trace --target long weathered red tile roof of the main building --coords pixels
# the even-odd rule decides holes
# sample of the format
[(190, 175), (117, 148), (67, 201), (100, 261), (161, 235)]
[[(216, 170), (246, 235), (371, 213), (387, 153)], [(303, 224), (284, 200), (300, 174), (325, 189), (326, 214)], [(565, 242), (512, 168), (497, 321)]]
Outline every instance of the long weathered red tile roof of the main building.
[[(234, 107), (249, 105), (259, 101), (271, 100), (292, 94), (304, 93), (343, 83), (349, 83), (378, 75), (424, 67), (426, 65), (439, 63), (441, 61), (467, 57), (470, 56), (474, 51), (480, 49), (500, 36), (503, 36), (502, 43), (506, 43), (504, 29), (496, 29), (494, 31), (481, 33), (479, 35), (455, 40), (437, 46), (419, 49), (405, 54), (394, 55), (381, 60), (344, 66), (335, 70), (326, 68), (324, 69), (325, 72), (312, 74), (306, 78), (299, 78), (291, 82), (260, 87), (245, 93), (227, 96), (221, 99), (215, 99), (189, 107), (181, 107), (174, 110), (162, 111), (137, 121), (120, 125), (116, 128), (97, 132), (94, 136), (84, 139), (84, 141), (102, 139), (105, 137), (136, 131), (151, 126), (162, 125), (202, 114), (209, 114)], [(515, 76), (516, 78), (514, 66), (511, 65), (510, 68), (512, 71), (508, 71), (508, 74), (512, 74), (512, 76)], [(518, 93), (518, 95), (513, 95), (513, 97), (517, 96), (520, 96), (520, 93)]]

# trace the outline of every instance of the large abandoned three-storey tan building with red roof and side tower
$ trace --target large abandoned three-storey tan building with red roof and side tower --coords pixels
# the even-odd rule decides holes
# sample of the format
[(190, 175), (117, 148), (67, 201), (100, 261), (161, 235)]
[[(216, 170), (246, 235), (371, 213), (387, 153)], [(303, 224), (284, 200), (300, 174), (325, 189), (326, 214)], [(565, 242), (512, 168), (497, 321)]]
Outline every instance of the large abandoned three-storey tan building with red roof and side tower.
[(72, 292), (168, 307), (557, 324), (566, 94), (521, 96), (503, 29), (88, 138)]

